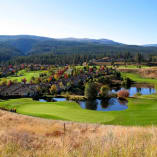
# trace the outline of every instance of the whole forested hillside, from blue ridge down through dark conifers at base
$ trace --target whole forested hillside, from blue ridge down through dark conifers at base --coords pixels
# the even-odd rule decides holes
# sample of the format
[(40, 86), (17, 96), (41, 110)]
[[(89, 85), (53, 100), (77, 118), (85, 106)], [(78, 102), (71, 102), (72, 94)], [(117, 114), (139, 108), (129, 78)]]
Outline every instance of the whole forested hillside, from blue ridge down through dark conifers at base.
[[(53, 39), (18, 35), (0, 36), (0, 62), (55, 64), (84, 62), (98, 57), (132, 58), (137, 53), (145, 57), (156, 56), (157, 47), (126, 45), (107, 39)], [(70, 60), (69, 60), (70, 59)]]

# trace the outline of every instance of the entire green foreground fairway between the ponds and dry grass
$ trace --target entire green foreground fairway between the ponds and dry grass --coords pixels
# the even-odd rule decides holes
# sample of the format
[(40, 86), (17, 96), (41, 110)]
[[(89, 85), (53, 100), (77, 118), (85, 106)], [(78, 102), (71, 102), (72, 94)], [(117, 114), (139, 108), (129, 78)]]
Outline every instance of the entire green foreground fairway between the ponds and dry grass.
[(157, 125), (157, 95), (129, 98), (128, 109), (123, 111), (84, 110), (75, 102), (38, 102), (32, 99), (0, 101), (0, 106), (16, 108), (20, 114), (87, 123), (127, 126)]

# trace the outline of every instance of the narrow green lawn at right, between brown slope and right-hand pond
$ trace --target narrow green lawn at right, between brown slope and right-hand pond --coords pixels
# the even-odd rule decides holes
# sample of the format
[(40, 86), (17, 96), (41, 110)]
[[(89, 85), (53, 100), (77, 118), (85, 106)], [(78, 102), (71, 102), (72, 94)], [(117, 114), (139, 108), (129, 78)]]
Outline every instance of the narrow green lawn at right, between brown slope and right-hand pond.
[(143, 78), (138, 74), (135, 73), (121, 73), (123, 77), (129, 77), (131, 80), (137, 83), (150, 83), (150, 84), (157, 84), (157, 79), (151, 78)]

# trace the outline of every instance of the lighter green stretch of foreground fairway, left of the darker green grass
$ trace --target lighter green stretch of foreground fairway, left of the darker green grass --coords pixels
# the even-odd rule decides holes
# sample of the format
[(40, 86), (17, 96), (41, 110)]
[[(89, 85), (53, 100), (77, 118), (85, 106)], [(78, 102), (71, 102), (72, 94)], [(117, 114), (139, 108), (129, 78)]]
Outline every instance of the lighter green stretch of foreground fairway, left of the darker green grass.
[[(75, 102), (38, 102), (32, 99), (11, 99), (0, 101), (1, 105), (16, 108), (18, 113), (68, 121), (101, 123), (112, 120), (112, 115), (83, 110)], [(8, 105), (9, 104), (9, 105)]]

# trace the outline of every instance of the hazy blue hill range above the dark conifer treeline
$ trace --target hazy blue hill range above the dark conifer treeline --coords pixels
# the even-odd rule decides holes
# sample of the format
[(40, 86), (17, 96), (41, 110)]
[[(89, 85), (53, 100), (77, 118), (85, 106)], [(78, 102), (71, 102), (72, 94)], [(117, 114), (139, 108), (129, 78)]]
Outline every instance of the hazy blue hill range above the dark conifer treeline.
[(142, 52), (157, 54), (156, 46), (126, 45), (108, 39), (55, 39), (33, 35), (0, 35), (0, 61), (6, 61), (17, 56), (43, 55), (47, 53), (110, 54)]

